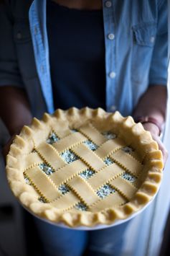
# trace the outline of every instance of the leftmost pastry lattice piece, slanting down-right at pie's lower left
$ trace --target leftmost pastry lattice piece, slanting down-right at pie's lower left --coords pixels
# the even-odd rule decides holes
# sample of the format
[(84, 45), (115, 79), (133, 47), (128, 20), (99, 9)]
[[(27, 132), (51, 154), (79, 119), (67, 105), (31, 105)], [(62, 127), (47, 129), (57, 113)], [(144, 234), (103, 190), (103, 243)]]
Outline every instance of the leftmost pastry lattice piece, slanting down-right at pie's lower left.
[(34, 187), (47, 198), (47, 200), (55, 200), (61, 194), (57, 190), (57, 187), (50, 182), (48, 177), (39, 169), (39, 167), (32, 167), (25, 171), (29, 180), (33, 183)]

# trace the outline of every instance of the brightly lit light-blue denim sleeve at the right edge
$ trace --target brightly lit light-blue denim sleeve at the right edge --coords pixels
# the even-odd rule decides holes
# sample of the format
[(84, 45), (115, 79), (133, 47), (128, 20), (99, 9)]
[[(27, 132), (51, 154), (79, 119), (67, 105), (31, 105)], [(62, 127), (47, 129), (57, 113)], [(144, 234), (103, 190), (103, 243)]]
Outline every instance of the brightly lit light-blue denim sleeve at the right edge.
[[(160, 2), (160, 1), (159, 1)], [(167, 1), (161, 1), (158, 7), (157, 35), (151, 60), (149, 84), (165, 85), (168, 69), (168, 15)]]

